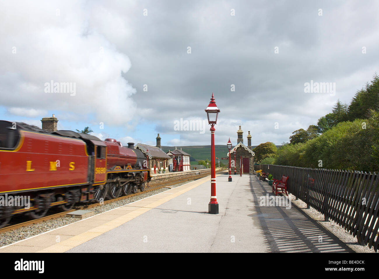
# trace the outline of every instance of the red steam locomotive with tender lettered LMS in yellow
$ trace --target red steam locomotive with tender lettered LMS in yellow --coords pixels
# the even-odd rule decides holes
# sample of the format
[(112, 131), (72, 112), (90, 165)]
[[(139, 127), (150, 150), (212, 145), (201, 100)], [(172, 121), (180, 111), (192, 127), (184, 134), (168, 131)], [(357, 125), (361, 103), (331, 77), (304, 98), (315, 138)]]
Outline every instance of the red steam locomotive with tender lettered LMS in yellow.
[(144, 191), (150, 171), (144, 154), (133, 147), (0, 121), (0, 228), (15, 214), (36, 219), (53, 206), (66, 211), (77, 202)]

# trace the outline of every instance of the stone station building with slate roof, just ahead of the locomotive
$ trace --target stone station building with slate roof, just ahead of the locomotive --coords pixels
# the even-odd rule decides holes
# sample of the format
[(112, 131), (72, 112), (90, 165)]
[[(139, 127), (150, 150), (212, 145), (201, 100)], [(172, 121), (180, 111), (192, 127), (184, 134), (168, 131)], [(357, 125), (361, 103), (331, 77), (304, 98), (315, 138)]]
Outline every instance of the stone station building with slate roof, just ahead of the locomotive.
[(170, 160), (170, 156), (168, 156), (162, 149), (161, 149), (161, 138), (158, 134), (157, 136), (157, 145), (156, 146), (151, 146), (147, 144), (142, 144), (138, 143), (134, 147), (135, 149), (141, 150), (144, 155), (146, 156), (147, 154), (147, 149), (149, 149), (149, 169), (154, 171), (154, 165), (156, 169), (166, 169), (168, 170), (168, 164)]

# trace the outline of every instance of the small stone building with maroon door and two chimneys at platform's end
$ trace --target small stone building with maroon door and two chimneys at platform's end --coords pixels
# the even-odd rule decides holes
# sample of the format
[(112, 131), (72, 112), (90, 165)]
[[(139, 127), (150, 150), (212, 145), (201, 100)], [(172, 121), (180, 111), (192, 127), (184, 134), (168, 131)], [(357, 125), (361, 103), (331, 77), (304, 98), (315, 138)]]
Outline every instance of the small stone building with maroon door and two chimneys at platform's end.
[[(237, 174), (240, 174), (241, 165), (243, 174), (253, 174), (254, 171), (254, 156), (255, 153), (252, 150), (251, 146), (251, 135), (250, 131), (247, 135), (247, 146), (243, 144), (243, 131), (238, 129), (237, 131), (237, 144), (235, 147), (230, 149), (230, 153), (227, 153), (227, 156), (230, 155), (231, 165), (232, 165), (232, 174), (234, 173), (234, 165), (236, 167)], [(233, 150), (236, 149), (236, 160), (234, 162)]]

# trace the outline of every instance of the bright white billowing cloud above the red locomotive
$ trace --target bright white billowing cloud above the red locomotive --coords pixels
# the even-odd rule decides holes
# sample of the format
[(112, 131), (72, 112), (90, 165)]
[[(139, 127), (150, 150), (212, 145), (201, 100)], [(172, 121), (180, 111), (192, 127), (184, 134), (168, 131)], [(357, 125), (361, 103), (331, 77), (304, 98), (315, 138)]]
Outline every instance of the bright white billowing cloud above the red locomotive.
[[(131, 62), (106, 39), (105, 32), (118, 31), (99, 19), (100, 5), (0, 3), (0, 94), (9, 113), (36, 117), (60, 110), (108, 126), (132, 120), (136, 90), (122, 77)], [(51, 81), (69, 83), (75, 93), (49, 90), (45, 84)]]

